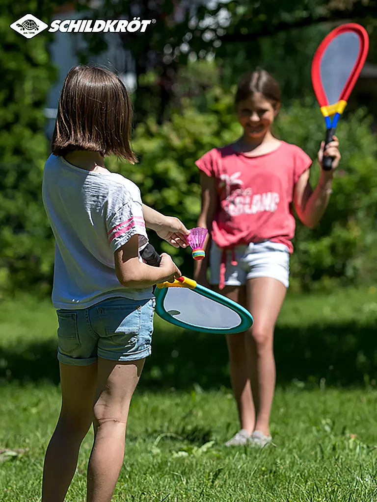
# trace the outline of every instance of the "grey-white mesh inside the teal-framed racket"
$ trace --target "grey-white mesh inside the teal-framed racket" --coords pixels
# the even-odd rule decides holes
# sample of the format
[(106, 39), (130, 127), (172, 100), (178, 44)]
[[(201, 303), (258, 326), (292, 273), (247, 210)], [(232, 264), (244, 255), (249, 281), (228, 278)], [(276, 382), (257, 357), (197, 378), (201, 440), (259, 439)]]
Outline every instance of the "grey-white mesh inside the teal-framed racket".
[(229, 329), (241, 324), (237, 312), (187, 288), (169, 288), (163, 305), (175, 319), (198, 328)]

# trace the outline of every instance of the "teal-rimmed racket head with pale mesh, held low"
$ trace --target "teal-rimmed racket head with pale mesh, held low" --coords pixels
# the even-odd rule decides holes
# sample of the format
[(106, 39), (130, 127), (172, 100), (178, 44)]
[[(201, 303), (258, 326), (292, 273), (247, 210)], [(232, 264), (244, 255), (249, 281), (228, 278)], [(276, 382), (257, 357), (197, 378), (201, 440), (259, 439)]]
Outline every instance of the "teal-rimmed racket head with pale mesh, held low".
[[(194, 281), (193, 281), (194, 283)], [(249, 329), (253, 318), (245, 308), (208, 288), (156, 288), (156, 314), (181, 328), (213, 334)]]

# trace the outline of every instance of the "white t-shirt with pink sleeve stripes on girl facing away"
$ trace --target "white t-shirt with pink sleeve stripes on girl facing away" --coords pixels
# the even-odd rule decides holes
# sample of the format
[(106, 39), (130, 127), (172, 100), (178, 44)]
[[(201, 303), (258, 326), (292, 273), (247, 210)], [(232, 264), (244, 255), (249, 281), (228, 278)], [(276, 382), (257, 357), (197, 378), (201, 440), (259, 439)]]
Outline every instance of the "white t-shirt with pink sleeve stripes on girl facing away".
[(140, 190), (132, 181), (86, 171), (51, 155), (42, 194), (56, 242), (55, 308), (83, 309), (114, 296), (153, 298), (152, 288), (125, 288), (115, 273), (119, 247), (135, 234), (139, 251), (148, 243)]

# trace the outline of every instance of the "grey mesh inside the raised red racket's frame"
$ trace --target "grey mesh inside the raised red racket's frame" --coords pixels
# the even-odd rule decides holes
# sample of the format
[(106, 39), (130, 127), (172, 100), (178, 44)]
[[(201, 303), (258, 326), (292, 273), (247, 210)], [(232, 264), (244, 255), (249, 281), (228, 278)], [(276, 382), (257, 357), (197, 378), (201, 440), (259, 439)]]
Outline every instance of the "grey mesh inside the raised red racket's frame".
[(345, 32), (335, 37), (327, 46), (321, 59), (321, 80), (329, 104), (339, 100), (360, 50), (356, 33)]

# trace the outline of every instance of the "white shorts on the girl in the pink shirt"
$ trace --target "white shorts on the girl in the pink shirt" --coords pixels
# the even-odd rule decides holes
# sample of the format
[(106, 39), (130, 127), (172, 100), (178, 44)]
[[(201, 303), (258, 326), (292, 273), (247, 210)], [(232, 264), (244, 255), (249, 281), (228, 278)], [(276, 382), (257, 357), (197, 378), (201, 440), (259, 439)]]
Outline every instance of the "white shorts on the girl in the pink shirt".
[[(211, 242), (210, 284), (219, 284), (223, 249)], [(235, 261), (237, 264), (232, 265)], [(226, 252), (225, 286), (242, 286), (247, 279), (271, 277), (289, 286), (290, 252), (285, 244), (265, 241), (236, 246)]]

